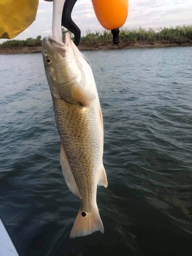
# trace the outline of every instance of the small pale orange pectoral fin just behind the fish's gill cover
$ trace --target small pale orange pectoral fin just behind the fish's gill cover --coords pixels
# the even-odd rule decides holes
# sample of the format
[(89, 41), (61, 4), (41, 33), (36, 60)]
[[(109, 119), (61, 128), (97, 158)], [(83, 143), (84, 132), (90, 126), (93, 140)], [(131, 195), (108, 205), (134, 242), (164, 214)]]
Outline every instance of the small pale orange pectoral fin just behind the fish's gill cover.
[(72, 86), (72, 98), (79, 101), (82, 106), (88, 107), (95, 99), (95, 95), (81, 86)]

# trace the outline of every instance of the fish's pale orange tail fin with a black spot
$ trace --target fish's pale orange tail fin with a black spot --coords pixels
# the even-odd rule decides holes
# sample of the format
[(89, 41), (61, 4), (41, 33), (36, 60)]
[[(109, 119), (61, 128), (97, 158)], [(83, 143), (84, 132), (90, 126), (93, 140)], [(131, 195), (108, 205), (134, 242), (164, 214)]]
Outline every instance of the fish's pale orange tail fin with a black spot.
[(75, 238), (77, 236), (86, 236), (92, 234), (95, 231), (100, 231), (101, 233), (104, 233), (103, 223), (100, 218), (97, 206), (91, 213), (83, 212), (80, 207), (70, 233), (70, 238)]

